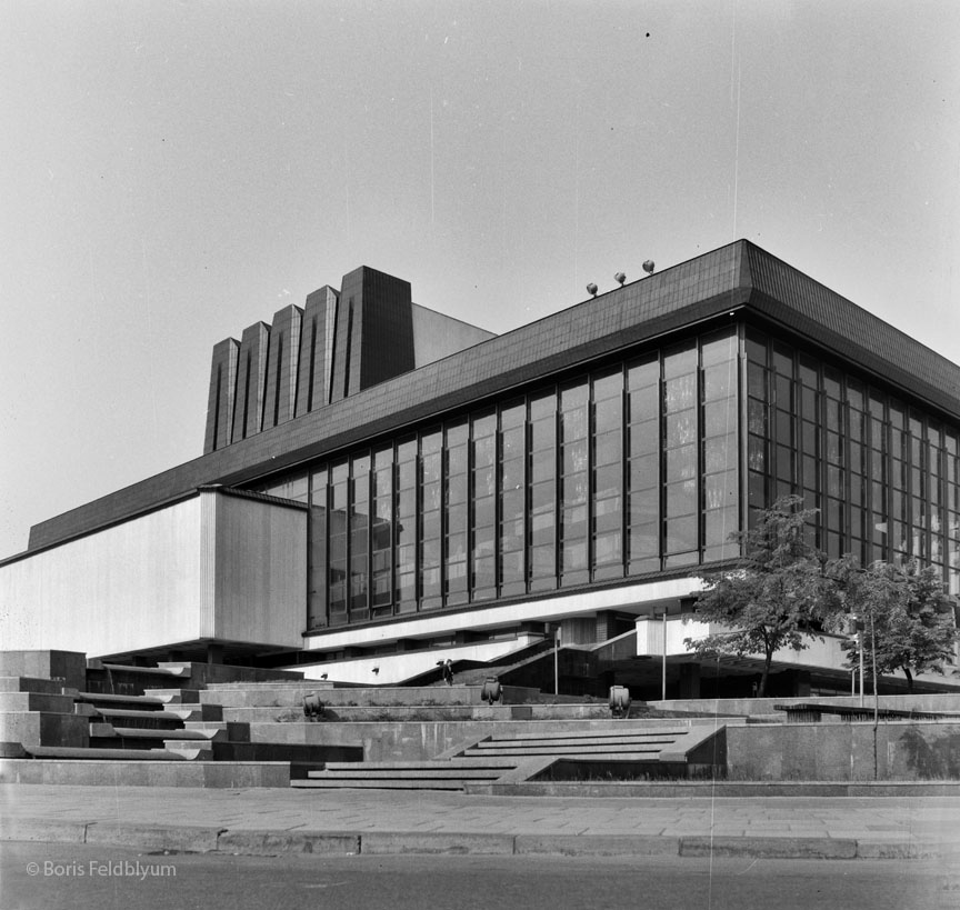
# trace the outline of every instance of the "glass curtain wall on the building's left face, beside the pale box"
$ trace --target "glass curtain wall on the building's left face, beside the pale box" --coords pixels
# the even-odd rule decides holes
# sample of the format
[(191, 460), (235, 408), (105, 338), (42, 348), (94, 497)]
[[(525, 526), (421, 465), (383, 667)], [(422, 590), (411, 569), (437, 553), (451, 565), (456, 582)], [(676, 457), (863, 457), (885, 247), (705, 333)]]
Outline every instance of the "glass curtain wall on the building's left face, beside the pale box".
[(731, 327), (258, 486), (309, 501), (308, 628), (737, 556), (738, 349)]

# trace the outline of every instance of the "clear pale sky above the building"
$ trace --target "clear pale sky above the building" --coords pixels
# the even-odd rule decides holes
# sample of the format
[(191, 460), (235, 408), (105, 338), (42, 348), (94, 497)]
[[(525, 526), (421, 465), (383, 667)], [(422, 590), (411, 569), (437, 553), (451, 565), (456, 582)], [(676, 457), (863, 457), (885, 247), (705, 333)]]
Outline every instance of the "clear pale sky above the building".
[(960, 362), (956, 0), (0, 0), (0, 556), (359, 264), (502, 332), (746, 237)]

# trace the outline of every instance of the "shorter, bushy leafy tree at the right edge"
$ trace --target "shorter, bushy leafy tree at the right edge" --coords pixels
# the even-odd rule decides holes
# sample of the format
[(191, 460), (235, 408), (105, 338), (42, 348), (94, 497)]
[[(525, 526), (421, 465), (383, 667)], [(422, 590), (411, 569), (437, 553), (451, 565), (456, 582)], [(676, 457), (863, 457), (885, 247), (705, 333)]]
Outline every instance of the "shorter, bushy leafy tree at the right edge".
[[(828, 574), (837, 582), (844, 611), (863, 622), (863, 650), (871, 654), (864, 662), (871, 668), (876, 653), (878, 676), (902, 671), (912, 692), (914, 676), (942, 673), (953, 662), (957, 599), (943, 590), (937, 569), (913, 561), (861, 569), (844, 557), (830, 563)], [(857, 667), (858, 642), (847, 641), (843, 648), (847, 666)]]

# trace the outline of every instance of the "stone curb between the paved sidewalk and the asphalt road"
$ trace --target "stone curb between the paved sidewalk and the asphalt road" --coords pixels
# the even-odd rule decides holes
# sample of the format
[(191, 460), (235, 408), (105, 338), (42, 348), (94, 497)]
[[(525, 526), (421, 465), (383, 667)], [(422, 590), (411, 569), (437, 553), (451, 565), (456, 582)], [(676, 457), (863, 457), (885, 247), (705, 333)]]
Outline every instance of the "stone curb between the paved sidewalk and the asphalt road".
[(747, 859), (944, 859), (960, 841), (917, 842), (854, 838), (641, 834), (508, 834), (496, 832), (228, 830), (4, 819), (0, 841), (124, 847), (150, 852), (286, 854), (447, 854), (564, 857), (740, 857)]

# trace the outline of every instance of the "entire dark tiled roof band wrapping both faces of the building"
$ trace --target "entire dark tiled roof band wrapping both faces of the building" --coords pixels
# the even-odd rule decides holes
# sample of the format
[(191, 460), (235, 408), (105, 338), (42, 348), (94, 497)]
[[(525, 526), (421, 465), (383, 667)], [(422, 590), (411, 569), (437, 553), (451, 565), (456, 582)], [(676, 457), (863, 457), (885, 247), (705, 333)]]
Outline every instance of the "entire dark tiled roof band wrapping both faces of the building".
[(960, 367), (747, 240), (381, 382), (33, 526), (29, 550), (237, 484), (726, 313), (754, 312), (960, 421)]

